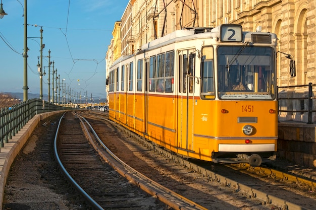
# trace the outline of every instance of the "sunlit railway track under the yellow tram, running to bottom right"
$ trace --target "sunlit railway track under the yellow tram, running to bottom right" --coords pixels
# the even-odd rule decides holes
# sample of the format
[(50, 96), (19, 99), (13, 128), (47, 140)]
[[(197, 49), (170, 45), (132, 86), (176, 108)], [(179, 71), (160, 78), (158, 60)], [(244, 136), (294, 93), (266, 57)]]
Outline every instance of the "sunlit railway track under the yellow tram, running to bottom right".
[[(102, 116), (90, 115), (90, 117), (95, 120), (98, 118), (99, 120), (102, 119), (103, 121), (107, 121), (106, 117)], [(146, 144), (151, 150), (158, 151), (160, 154), (165, 154), (170, 160), (176, 160), (176, 162), (186, 166), (188, 169), (198, 172), (196, 173), (197, 178), (195, 178), (195, 180), (200, 180), (202, 177), (208, 177), (209, 182), (221, 184), (222, 187), (225, 186), (225, 188), (230, 188), (234, 192), (239, 192), (239, 194), (244, 195), (246, 198), (258, 200), (261, 202), (262, 206), (268, 206), (270, 209), (316, 209), (314, 193), (315, 183), (312, 180), (265, 167), (258, 169), (253, 169), (252, 167), (231, 169), (227, 167), (230, 165), (184, 160), (168, 153), (168, 151), (164, 151), (160, 147), (156, 147), (147, 141), (143, 141), (143, 139), (138, 138), (137, 135), (134, 135), (129, 131), (124, 131), (125, 129), (121, 126), (117, 126), (117, 128), (121, 132), (126, 132), (126, 135), (133, 136), (137, 141), (142, 142), (142, 144)], [(126, 140), (127, 139), (129, 138), (126, 138)], [(129, 140), (126, 142), (129, 142)], [(128, 160), (124, 161), (128, 163)], [(267, 173), (265, 173), (265, 171)], [(205, 181), (205, 185), (208, 185), (207, 181)], [(224, 188), (221, 188), (221, 190), (223, 189)], [(185, 193), (183, 195), (186, 196)], [(194, 200), (192, 196), (188, 197)], [(209, 197), (211, 196), (209, 195)], [(198, 203), (209, 208), (207, 203)], [(273, 206), (271, 207), (271, 205)], [(209, 209), (212, 209), (212, 206)]]

